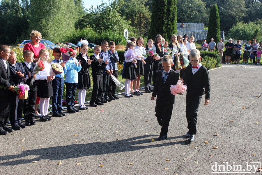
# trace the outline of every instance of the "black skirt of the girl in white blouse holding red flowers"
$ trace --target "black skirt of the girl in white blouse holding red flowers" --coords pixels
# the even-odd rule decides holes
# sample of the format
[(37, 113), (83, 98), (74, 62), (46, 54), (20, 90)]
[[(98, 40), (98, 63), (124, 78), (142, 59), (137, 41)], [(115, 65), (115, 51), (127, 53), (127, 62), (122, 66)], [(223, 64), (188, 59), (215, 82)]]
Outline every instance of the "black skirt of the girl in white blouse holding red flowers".
[(38, 80), (37, 81), (37, 96), (40, 98), (50, 98), (53, 96), (52, 80)]

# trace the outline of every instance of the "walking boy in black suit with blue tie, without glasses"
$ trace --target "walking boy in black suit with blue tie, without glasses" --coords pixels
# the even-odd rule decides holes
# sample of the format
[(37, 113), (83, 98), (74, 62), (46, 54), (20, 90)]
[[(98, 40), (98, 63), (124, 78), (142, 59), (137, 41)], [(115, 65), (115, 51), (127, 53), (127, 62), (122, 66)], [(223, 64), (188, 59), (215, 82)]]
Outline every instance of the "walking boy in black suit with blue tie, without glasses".
[(153, 90), (151, 100), (155, 100), (155, 116), (158, 124), (162, 126), (160, 136), (157, 140), (167, 139), (167, 131), (169, 121), (171, 119), (173, 105), (175, 104), (175, 96), (171, 94), (170, 86), (176, 85), (179, 74), (171, 69), (173, 66), (173, 59), (170, 55), (165, 55), (162, 58), (163, 70), (156, 72), (156, 82)]

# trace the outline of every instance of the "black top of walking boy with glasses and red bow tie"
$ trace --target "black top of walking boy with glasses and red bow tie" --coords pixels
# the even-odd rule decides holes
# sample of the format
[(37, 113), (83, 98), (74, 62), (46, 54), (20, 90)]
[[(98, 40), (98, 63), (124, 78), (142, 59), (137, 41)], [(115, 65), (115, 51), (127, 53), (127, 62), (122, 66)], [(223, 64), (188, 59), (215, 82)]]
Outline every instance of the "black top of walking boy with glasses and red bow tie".
[(199, 70), (193, 74), (192, 65), (187, 66), (183, 80), (184, 84), (187, 85), (187, 95), (199, 97), (206, 92), (205, 99), (210, 99), (210, 80), (206, 67), (202, 65)]

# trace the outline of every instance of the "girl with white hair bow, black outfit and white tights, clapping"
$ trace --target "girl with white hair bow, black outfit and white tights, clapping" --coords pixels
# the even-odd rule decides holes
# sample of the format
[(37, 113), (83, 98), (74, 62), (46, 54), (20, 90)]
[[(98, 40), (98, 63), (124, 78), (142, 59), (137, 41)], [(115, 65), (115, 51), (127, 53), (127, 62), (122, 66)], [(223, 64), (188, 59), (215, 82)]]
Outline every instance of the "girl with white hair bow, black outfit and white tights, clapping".
[(88, 45), (82, 44), (80, 47), (80, 53), (77, 55), (76, 59), (81, 62), (81, 70), (78, 72), (78, 83), (77, 89), (78, 92), (78, 100), (79, 100), (79, 110), (86, 110), (88, 109), (85, 106), (85, 99), (86, 99), (86, 89), (91, 88), (91, 80), (89, 75), (89, 68), (91, 67), (92, 60), (89, 59), (87, 55)]

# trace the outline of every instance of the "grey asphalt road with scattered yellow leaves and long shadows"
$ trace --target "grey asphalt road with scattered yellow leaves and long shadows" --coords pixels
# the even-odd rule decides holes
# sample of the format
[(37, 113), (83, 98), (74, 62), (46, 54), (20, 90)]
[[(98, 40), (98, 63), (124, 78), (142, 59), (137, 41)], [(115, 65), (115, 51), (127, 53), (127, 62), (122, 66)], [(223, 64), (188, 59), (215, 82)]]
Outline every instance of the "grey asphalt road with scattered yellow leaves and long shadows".
[[(104, 106), (48, 122), (37, 118), (35, 126), (0, 136), (0, 174), (252, 174), (262, 162), (262, 66), (223, 66), (210, 71), (210, 104), (201, 101), (194, 142), (184, 138), (186, 94), (176, 96), (164, 141), (156, 140), (151, 94), (119, 95)], [(222, 165), (230, 169), (226, 162), (230, 171), (222, 171)], [(233, 171), (236, 165), (241, 171)]]

